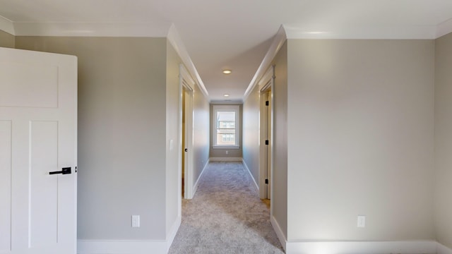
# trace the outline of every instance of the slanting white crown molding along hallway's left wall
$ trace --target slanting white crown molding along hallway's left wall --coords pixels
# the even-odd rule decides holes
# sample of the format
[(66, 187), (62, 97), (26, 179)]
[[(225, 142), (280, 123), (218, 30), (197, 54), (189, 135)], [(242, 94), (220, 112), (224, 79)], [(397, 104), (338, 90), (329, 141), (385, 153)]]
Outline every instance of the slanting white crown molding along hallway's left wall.
[(196, 80), (196, 85), (198, 85), (204, 97), (208, 99), (209, 93), (207, 92), (206, 86), (204, 86), (203, 80), (201, 80), (201, 77), (199, 76), (199, 73), (196, 70), (193, 61), (191, 61), (189, 52), (186, 51), (184, 43), (182, 42), (182, 39), (179, 36), (179, 32), (177, 32), (176, 26), (174, 24), (169, 27), (169, 31), (167, 32), (167, 39), (169, 43), (172, 44), (172, 47), (176, 49), (177, 54), (179, 54), (182, 62), (188, 69), (191, 76), (194, 77), (194, 80)]

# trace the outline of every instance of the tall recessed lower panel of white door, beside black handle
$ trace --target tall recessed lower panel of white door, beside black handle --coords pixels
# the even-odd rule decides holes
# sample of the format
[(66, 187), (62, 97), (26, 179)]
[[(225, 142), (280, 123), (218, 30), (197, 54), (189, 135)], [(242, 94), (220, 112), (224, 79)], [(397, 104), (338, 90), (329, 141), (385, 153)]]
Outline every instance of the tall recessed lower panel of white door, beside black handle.
[(58, 240), (58, 122), (30, 122), (30, 248)]

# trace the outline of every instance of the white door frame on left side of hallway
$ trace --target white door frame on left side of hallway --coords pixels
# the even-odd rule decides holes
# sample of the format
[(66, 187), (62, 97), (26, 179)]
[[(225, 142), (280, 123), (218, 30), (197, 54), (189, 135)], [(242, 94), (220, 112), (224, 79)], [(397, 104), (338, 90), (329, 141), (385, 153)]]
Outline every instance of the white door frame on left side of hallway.
[[(191, 199), (193, 198), (193, 99), (194, 99), (194, 90), (193, 87), (196, 85), (193, 78), (183, 64), (179, 65), (179, 151), (182, 153), (183, 149), (187, 149), (185, 152), (185, 160), (186, 162), (182, 162), (182, 154), (180, 156), (179, 162), (179, 179), (182, 179), (182, 163), (186, 165), (185, 167), (185, 176), (184, 176), (184, 198)], [(182, 110), (184, 109), (182, 105), (182, 96), (184, 92), (187, 92), (185, 97), (185, 133), (186, 133), (186, 142), (185, 147), (182, 147)], [(182, 180), (179, 183), (179, 193), (182, 193)], [(180, 197), (181, 195), (179, 195)], [(182, 199), (179, 204), (182, 204)]]

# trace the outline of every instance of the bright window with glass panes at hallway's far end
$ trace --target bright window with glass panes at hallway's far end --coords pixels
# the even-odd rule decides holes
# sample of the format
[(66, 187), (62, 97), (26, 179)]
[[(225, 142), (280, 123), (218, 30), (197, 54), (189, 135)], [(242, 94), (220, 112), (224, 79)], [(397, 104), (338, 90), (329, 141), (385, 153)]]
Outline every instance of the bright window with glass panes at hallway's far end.
[(239, 106), (213, 105), (213, 147), (239, 147)]

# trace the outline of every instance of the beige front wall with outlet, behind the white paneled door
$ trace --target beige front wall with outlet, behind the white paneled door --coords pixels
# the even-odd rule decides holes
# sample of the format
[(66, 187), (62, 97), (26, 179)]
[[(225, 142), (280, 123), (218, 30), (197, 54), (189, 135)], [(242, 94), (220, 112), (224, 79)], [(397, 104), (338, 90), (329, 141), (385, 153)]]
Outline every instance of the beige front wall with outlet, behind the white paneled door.
[(167, 40), (16, 39), (78, 56), (78, 238), (165, 239)]

